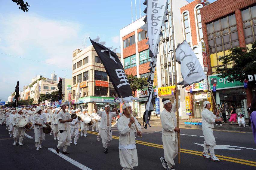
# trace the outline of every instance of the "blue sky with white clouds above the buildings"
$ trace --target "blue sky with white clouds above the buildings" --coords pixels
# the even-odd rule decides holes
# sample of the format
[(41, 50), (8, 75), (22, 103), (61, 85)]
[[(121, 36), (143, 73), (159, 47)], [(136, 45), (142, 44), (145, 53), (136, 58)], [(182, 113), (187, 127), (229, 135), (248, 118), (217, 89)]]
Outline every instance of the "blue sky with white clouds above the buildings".
[[(51, 78), (54, 70), (57, 78), (65, 77), (64, 70), (72, 78), (72, 52), (82, 49), (86, 37), (87, 46), (88, 37), (98, 35), (120, 52), (120, 29), (132, 22), (131, 1), (134, 21), (135, 0), (27, 0), (28, 12), (0, 1), (0, 99), (8, 100), (17, 80), (22, 91), (32, 77)], [(146, 6), (136, 2), (139, 19)]]

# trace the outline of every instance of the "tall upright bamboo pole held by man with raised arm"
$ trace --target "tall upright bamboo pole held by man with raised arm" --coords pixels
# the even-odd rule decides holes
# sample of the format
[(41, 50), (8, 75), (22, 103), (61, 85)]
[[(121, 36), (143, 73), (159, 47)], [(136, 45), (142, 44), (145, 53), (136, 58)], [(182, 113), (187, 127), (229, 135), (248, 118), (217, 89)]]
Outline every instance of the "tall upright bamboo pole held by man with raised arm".
[[(174, 58), (174, 76), (175, 76), (175, 99), (176, 99), (176, 114), (177, 114), (177, 128), (179, 125), (179, 101), (178, 101), (178, 84), (177, 84), (177, 66), (176, 66), (176, 50), (175, 50), (175, 42), (174, 42), (174, 27), (173, 27), (173, 12), (172, 12), (172, 0), (170, 1), (171, 5), (171, 25), (172, 25), (172, 36), (173, 36), (173, 58)], [(169, 21), (170, 22), (170, 21)], [(178, 163), (180, 163), (180, 133), (177, 134), (178, 138)]]

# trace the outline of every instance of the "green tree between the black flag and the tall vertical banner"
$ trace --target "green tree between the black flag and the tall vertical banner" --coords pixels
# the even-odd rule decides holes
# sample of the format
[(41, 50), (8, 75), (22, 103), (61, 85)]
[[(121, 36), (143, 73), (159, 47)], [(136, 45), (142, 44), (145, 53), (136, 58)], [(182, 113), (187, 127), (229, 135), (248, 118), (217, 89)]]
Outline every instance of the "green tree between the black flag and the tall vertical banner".
[[(128, 82), (130, 83), (131, 86), (131, 92), (133, 97), (135, 97), (135, 93), (137, 89), (142, 90), (145, 86), (148, 85), (147, 79), (146, 78), (137, 78), (136, 76), (128, 75), (126, 74), (126, 77), (128, 79)], [(132, 108), (134, 109), (134, 102), (132, 104)]]

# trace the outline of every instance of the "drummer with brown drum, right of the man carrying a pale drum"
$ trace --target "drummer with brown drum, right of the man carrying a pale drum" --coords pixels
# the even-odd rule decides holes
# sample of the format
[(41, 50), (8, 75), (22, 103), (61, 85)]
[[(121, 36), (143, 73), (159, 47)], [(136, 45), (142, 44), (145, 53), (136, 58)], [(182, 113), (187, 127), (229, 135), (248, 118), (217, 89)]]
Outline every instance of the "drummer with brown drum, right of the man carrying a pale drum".
[[(47, 111), (47, 110), (46, 110)], [(41, 114), (42, 109), (38, 106), (36, 108), (37, 114), (33, 117), (34, 132), (35, 132), (35, 147), (36, 150), (42, 148), (41, 144), (45, 140), (45, 133), (43, 132), (43, 125), (48, 124), (46, 117)]]

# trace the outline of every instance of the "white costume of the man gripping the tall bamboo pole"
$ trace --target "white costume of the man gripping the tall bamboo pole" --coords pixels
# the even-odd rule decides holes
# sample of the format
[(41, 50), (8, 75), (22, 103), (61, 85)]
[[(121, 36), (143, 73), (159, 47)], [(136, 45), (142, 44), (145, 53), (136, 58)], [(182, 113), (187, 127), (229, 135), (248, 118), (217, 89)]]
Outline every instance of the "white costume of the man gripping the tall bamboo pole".
[[(178, 101), (178, 106), (180, 107), (180, 100)], [(174, 131), (175, 127), (177, 127), (177, 119), (175, 112), (176, 99), (172, 104), (170, 112), (164, 109), (160, 114), (160, 119), (162, 122), (162, 141), (165, 154), (164, 159), (167, 162), (168, 168), (175, 165), (173, 159), (178, 154), (177, 132)]]

